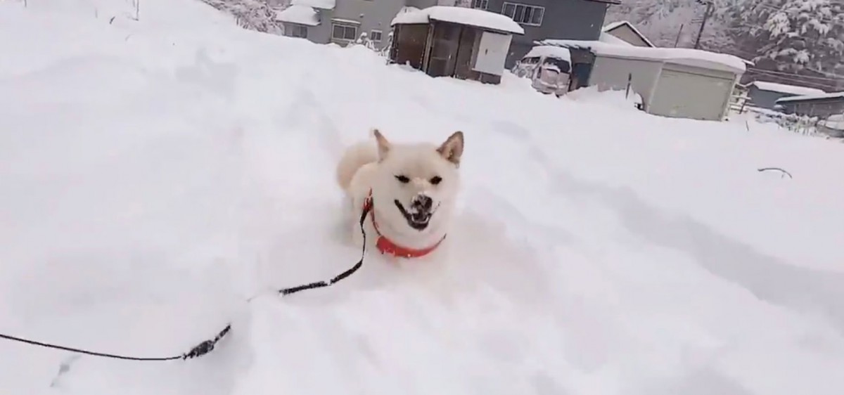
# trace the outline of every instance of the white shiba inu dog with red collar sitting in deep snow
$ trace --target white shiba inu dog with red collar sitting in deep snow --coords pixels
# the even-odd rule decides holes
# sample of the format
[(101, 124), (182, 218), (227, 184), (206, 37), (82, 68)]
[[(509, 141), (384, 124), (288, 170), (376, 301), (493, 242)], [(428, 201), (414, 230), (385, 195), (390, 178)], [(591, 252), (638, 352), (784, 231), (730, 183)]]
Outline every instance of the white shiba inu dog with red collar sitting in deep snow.
[(354, 214), (354, 241), (360, 245), (360, 217), (367, 240), (381, 253), (423, 257), (445, 240), (460, 188), (463, 132), (439, 146), (390, 143), (377, 129), (375, 142), (346, 149), (337, 167), (337, 181)]

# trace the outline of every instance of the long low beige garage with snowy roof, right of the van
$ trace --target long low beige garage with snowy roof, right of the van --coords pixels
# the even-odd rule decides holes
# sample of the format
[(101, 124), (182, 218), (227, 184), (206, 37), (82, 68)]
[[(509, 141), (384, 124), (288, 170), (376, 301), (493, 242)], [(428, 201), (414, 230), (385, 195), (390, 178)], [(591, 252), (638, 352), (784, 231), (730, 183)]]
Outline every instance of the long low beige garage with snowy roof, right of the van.
[(643, 110), (660, 116), (721, 121), (727, 116), (733, 87), (746, 70), (738, 57), (689, 48), (571, 40), (538, 44), (569, 48), (572, 78), (579, 80), (579, 86), (626, 89), (630, 84), (641, 95)]

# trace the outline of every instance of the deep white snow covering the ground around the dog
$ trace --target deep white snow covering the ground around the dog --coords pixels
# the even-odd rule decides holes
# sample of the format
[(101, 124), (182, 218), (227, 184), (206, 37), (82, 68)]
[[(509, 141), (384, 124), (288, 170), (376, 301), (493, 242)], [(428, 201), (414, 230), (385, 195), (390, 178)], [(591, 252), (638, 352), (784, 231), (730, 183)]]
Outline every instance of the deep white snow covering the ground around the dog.
[[(0, 393), (844, 392), (844, 146), (428, 78), (193, 0), (0, 3)], [(113, 20), (112, 17), (115, 17)], [(344, 241), (333, 166), (467, 137), (446, 262)], [(758, 168), (779, 166), (793, 179)]]

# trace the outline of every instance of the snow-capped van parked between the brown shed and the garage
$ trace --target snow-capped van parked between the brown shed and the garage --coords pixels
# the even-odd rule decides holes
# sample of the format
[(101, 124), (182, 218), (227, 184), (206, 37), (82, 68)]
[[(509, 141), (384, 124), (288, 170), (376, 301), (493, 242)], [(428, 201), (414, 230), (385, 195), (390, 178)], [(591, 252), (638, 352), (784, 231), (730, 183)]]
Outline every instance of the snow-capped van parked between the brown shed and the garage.
[(512, 71), (518, 77), (531, 78), (533, 89), (560, 97), (569, 91), (571, 53), (560, 46), (534, 46)]

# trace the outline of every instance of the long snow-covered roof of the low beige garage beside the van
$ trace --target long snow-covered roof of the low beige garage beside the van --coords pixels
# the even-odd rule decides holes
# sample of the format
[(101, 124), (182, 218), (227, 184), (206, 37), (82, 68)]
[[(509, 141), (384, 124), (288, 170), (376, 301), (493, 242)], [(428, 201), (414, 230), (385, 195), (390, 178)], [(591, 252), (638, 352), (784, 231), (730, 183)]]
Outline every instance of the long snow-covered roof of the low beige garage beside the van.
[(682, 64), (698, 68), (722, 70), (730, 73), (744, 73), (744, 61), (726, 53), (696, 50), (690, 48), (651, 48), (647, 46), (619, 46), (601, 41), (543, 40), (545, 46), (565, 46), (592, 51), (596, 56), (625, 57), (651, 61)]

